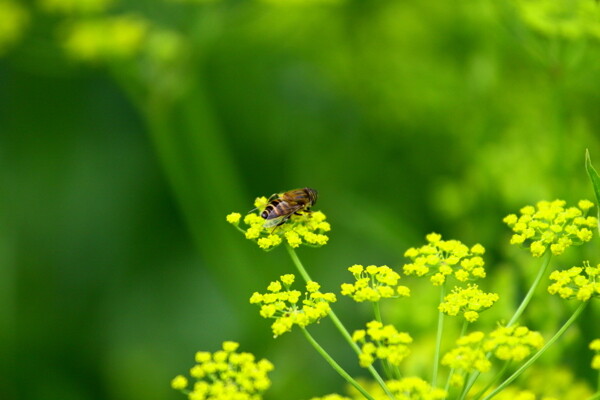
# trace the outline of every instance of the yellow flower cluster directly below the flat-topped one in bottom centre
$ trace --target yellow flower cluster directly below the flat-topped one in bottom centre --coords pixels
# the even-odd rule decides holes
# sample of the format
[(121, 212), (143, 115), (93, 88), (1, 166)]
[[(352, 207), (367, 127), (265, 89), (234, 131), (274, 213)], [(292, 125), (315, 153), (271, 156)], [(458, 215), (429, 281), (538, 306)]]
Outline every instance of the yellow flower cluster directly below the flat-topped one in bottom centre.
[(387, 360), (392, 365), (400, 365), (409, 354), (408, 344), (412, 338), (406, 332), (398, 332), (393, 325), (386, 325), (379, 321), (367, 323), (367, 329), (354, 331), (352, 340), (362, 344), (359, 355), (361, 367), (368, 367), (375, 359)]

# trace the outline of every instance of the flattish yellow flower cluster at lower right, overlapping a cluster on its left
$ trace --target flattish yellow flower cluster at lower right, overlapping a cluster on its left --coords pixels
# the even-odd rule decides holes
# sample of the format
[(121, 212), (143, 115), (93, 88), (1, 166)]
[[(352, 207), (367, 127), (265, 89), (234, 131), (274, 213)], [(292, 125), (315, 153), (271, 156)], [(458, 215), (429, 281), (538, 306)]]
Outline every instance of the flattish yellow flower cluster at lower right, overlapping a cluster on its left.
[(493, 352), (500, 360), (521, 361), (542, 348), (544, 338), (539, 332), (525, 326), (501, 326), (492, 331), (483, 344), (483, 350)]

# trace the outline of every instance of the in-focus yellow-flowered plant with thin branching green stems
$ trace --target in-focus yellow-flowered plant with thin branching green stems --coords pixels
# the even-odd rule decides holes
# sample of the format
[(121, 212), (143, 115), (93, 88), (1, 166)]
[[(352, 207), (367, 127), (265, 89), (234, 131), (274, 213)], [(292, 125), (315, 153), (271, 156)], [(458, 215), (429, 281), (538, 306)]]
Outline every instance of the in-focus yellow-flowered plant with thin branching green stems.
[[(597, 174), (595, 175), (589, 156), (587, 167), (597, 190)], [(582, 267), (554, 270), (549, 274), (551, 284), (547, 292), (578, 303), (571, 316), (547, 340), (540, 332), (518, 323), (533, 296), (543, 296), (538, 289), (543, 278), (548, 275), (553, 257), (564, 253), (571, 246), (579, 246), (592, 239), (598, 219), (588, 215), (594, 206), (588, 200), (581, 200), (577, 206), (567, 206), (562, 200), (540, 201), (535, 206), (521, 208), (518, 215), (510, 214), (504, 218), (504, 222), (513, 231), (511, 244), (520, 246), (528, 250), (532, 257), (539, 258), (540, 266), (529, 291), (508, 318), (508, 322), (498, 321), (497, 327), (487, 332), (469, 332), (479, 314), (492, 307), (499, 298), (498, 294), (485, 293), (472, 283), (486, 277), (484, 247), (480, 244), (469, 247), (457, 240), (443, 240), (436, 233), (428, 234), (425, 244), (405, 252), (409, 262), (402, 268), (404, 275), (415, 276), (415, 279), (427, 278), (431, 284), (439, 287), (437, 335), (430, 382), (427, 382), (421, 377), (404, 375), (402, 363), (410, 355), (413, 338), (407, 332), (398, 331), (393, 324), (385, 324), (384, 320), (387, 318), (384, 318), (380, 309), (380, 303), (386, 299), (401, 302), (403, 298), (410, 296), (411, 278), (401, 278), (399, 272), (388, 266), (349, 267), (348, 271), (354, 281), (341, 284), (341, 295), (357, 303), (370, 302), (374, 316), (364, 329), (351, 335), (332, 308), (332, 304), (337, 301), (336, 295), (320, 291), (321, 285), (310, 278), (295, 250), (301, 245), (320, 247), (327, 243), (326, 233), (331, 227), (326, 222), (325, 214), (317, 211), (293, 215), (281, 227), (267, 229), (263, 227), (264, 220), (260, 217), (266, 204), (266, 198), (259, 198), (255, 202), (257, 213), (249, 213), (243, 221), (240, 214), (232, 213), (227, 216), (227, 221), (264, 250), (284, 246), (306, 286), (305, 290), (293, 289), (295, 276), (286, 274), (271, 282), (264, 293), (255, 292), (250, 302), (260, 307), (262, 317), (274, 319), (271, 325), (274, 337), (292, 331), (297, 325), (307, 341), (354, 391), (354, 394), (350, 394), (351, 397), (331, 394), (313, 400), (535, 399), (533, 393), (509, 388), (509, 385), (569, 329), (592, 298), (600, 297), (600, 265), (593, 267), (589, 262), (583, 262)], [(401, 280), (406, 284), (400, 285)], [(450, 287), (452, 291), (447, 293)], [(442, 337), (447, 316), (461, 318), (462, 329), (456, 346), (442, 356)], [(356, 353), (360, 366), (369, 371), (374, 384), (351, 377), (309, 333), (311, 324), (326, 317), (332, 320)], [(596, 352), (600, 348), (597, 341), (592, 342), (590, 347)], [(600, 368), (597, 358), (596, 355), (592, 362), (592, 367), (596, 369)], [(440, 366), (449, 369), (443, 384)], [(227, 366), (223, 364), (223, 368), (226, 369)], [(192, 376), (193, 371), (194, 369)], [(202, 374), (201, 378), (205, 377), (206, 374)], [(228, 383), (224, 383), (218, 376), (210, 378), (211, 385), (216, 386), (214, 392), (206, 389), (206, 383), (201, 384), (201, 393), (194, 388), (186, 389), (187, 382), (184, 385), (182, 379), (176, 378), (173, 387), (186, 391), (191, 399), (261, 398), (255, 392), (238, 389), (234, 390), (234, 394), (225, 393), (223, 385), (227, 387)], [(481, 380), (484, 383), (478, 382)], [(238, 388), (239, 385), (233, 386)], [(268, 385), (263, 385), (263, 388), (266, 386)], [(599, 394), (596, 392), (589, 395), (590, 399), (595, 399)]]

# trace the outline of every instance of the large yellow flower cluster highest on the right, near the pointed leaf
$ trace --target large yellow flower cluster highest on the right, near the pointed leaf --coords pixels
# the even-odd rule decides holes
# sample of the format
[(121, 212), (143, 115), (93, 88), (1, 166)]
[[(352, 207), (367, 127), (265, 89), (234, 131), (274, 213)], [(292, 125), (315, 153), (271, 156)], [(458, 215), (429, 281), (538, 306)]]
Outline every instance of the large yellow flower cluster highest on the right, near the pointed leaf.
[(536, 207), (521, 208), (521, 216), (507, 215), (503, 221), (513, 230), (511, 244), (529, 247), (534, 257), (541, 257), (549, 248), (552, 254), (562, 254), (569, 246), (580, 245), (592, 239), (592, 230), (598, 219), (588, 217), (594, 206), (581, 200), (578, 207), (565, 208), (564, 200), (540, 201)]

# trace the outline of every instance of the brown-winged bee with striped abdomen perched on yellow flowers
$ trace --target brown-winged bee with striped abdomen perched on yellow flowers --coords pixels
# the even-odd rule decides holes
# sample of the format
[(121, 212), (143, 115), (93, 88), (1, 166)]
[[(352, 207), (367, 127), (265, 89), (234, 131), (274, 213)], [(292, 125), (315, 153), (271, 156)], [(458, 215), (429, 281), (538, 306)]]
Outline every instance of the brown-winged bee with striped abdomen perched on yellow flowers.
[(289, 192), (274, 194), (269, 197), (269, 203), (260, 214), (266, 221), (264, 228), (278, 227), (289, 220), (292, 215), (300, 212), (310, 212), (310, 208), (317, 203), (318, 193), (315, 189), (302, 188)]

